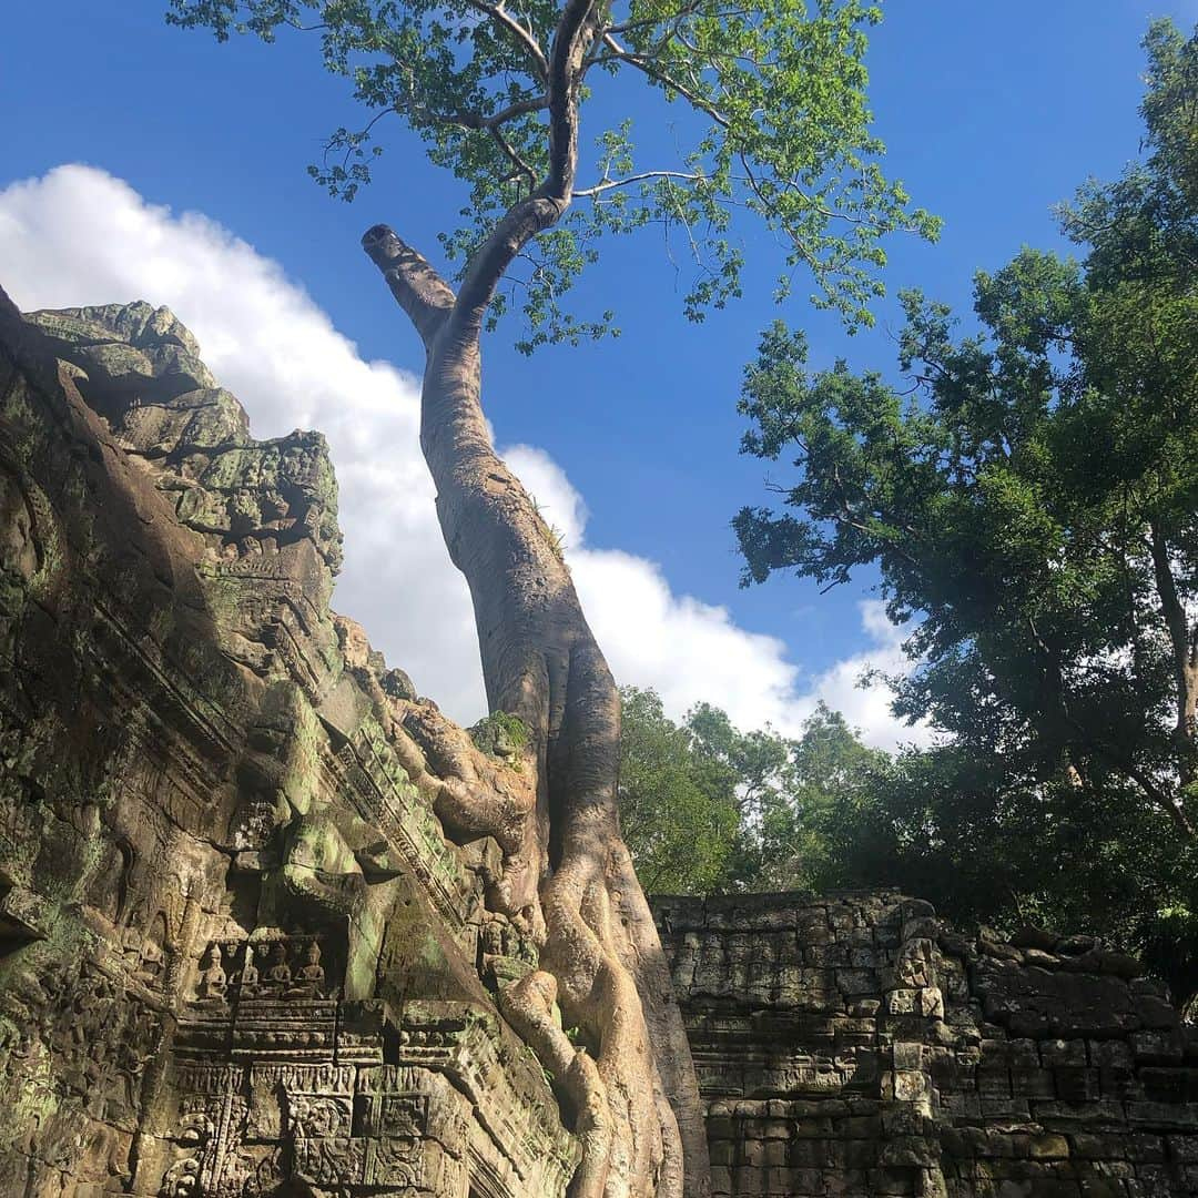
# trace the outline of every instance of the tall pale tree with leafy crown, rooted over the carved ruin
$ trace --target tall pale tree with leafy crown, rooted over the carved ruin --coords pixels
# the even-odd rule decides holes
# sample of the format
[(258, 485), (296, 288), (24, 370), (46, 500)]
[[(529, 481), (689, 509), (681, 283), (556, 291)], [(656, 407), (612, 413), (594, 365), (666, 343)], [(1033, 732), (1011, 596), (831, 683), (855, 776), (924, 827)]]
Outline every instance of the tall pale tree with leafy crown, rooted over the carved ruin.
[[(334, 194), (369, 179), (388, 116), (467, 190), (465, 226), (442, 236), (452, 273), (386, 226), (363, 244), (426, 350), (420, 440), (437, 513), (470, 583), (491, 709), (530, 732), (530, 785), (496, 794), (447, 727), (419, 732), (459, 774), (443, 821), (498, 839), (492, 902), (541, 944), (541, 967), (501, 1000), (569, 1096), (585, 1149), (574, 1193), (706, 1193), (694, 1072), (619, 834), (618, 696), (556, 538), (492, 449), (479, 340), (514, 297), (525, 350), (604, 332), (610, 315), (576, 317), (563, 297), (597, 235), (651, 224), (692, 248), (685, 307), (698, 319), (739, 292), (731, 219), (745, 210), (785, 247), (782, 290), (804, 267), (819, 302), (861, 319), (879, 237), (934, 228), (877, 164), (861, 60), (878, 12), (860, 0), (174, 0), (171, 19), (222, 40), (314, 32), (365, 110), (333, 135), (340, 157), (313, 168)], [(694, 140), (678, 161), (639, 162), (627, 123), (583, 135), (592, 91), (633, 84), (685, 114)]]

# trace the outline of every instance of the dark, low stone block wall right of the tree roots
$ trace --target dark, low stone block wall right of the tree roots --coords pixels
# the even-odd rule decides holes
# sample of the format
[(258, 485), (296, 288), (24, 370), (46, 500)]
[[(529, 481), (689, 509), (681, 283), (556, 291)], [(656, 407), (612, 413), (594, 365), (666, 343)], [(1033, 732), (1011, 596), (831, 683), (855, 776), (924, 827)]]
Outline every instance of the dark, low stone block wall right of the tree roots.
[(716, 1194), (1198, 1193), (1198, 1029), (1136, 961), (897, 894), (654, 906)]

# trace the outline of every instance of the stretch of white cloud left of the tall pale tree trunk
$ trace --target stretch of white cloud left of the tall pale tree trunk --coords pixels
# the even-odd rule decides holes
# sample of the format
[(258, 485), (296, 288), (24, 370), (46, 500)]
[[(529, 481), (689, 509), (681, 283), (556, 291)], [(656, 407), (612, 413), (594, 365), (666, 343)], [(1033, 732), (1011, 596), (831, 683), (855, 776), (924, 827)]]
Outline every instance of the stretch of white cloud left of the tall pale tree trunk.
[(423, 694), (459, 718), (482, 714), (470, 594), (437, 527), (411, 375), (364, 362), (277, 262), (228, 230), (150, 205), (87, 167), (0, 192), (0, 282), (26, 310), (168, 304), (244, 404), (255, 436), (320, 429), (340, 483), (338, 609)]

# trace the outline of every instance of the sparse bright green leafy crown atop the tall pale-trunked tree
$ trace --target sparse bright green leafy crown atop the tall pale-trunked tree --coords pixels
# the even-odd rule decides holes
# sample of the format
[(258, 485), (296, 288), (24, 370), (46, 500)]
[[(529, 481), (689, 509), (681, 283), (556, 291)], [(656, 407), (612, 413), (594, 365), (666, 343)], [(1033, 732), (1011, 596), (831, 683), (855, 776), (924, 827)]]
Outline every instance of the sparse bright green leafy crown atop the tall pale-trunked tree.
[[(461, 223), (442, 234), (446, 256), (464, 271), (503, 213), (546, 177), (546, 63), (559, 17), (550, 0), (514, 7), (492, 0), (171, 0), (168, 19), (211, 29), (222, 41), (314, 34), (323, 67), (350, 80), (363, 121), (332, 134), (311, 176), (353, 199), (383, 150), (381, 122), (398, 117), (423, 139), (430, 162), (464, 184)], [(634, 77), (680, 110), (659, 116), (677, 122), (682, 145), (664, 162), (642, 162), (631, 122), (585, 133), (575, 202), (520, 255), (492, 301), (490, 326), (519, 309), (525, 351), (615, 332), (611, 311), (579, 317), (565, 294), (597, 260), (601, 235), (651, 225), (690, 264), (684, 305), (701, 320), (740, 294), (737, 211), (754, 213), (783, 247), (780, 297), (803, 267), (817, 303), (867, 321), (866, 304), (882, 292), (881, 238), (898, 229), (937, 231), (881, 171), (864, 66), (865, 31), (879, 19), (861, 0), (601, 6), (585, 63), (583, 111), (604, 89), (622, 89), (618, 107)]]

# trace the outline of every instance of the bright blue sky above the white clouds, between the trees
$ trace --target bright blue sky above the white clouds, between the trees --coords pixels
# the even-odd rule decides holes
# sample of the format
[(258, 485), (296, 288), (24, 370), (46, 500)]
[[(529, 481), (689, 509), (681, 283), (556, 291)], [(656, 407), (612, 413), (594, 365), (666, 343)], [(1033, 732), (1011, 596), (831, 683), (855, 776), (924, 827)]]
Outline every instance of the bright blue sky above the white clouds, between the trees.
[[(1182, 25), (1198, 17), (1192, 2), (1138, 0), (893, 0), (885, 11), (869, 56), (876, 128), (889, 149), (889, 173), (945, 220), (938, 246), (893, 240), (887, 277), (891, 292), (920, 286), (957, 305), (968, 303), (976, 268), (1000, 266), (1025, 243), (1059, 243), (1052, 205), (1087, 175), (1115, 175), (1136, 153), (1139, 38), (1151, 17), (1172, 16)], [(357, 343), (361, 358), (418, 365), (415, 338), (358, 237), (386, 220), (432, 250), (443, 214), (461, 198), (403, 141), (393, 143), (376, 183), (352, 205), (331, 200), (308, 180), (304, 168), (325, 134), (353, 119), (344, 81), (321, 74), (310, 42), (297, 36), (273, 47), (250, 40), (217, 46), (165, 26), (153, 0), (11, 5), (5, 26), (0, 188), (63, 163), (99, 168), (146, 204), (204, 213), (278, 262)], [(635, 121), (636, 104), (629, 110)], [(640, 115), (653, 119), (648, 107)], [(105, 236), (102, 216), (89, 217), (92, 236)], [(35, 291), (31, 228), (26, 222), (18, 231), (29, 253), (22, 277)], [(56, 248), (48, 243), (44, 253), (67, 253), (66, 229), (47, 234)], [(655, 242), (611, 246), (579, 301), (592, 310), (613, 307), (624, 335), (530, 361), (507, 346), (501, 331), (485, 346), (486, 403), (501, 444), (536, 446), (556, 464), (543, 488), (559, 508), (575, 503), (568, 490), (555, 491), (561, 472), (585, 497), (588, 546), (657, 562), (677, 595), (722, 605), (739, 628), (780, 639), (799, 670), (788, 685), (801, 691), (887, 637), (863, 627), (859, 600), (869, 595), (869, 580), (825, 597), (798, 580), (737, 586), (728, 520), (743, 503), (764, 500), (762, 464), (737, 453), (738, 379), (760, 329), (778, 314), (769, 301), (776, 261), (768, 247), (756, 248), (764, 253), (746, 298), (695, 327), (680, 315), (672, 271)], [(5, 254), (0, 236), (0, 283), (29, 307)], [(7, 254), (16, 254), (11, 243)], [(60, 276), (66, 286), (69, 273)], [(150, 278), (170, 289), (170, 272)], [(891, 302), (878, 307), (877, 328), (847, 338), (836, 317), (801, 302), (804, 294), (797, 288), (782, 315), (807, 329), (815, 364), (846, 356), (860, 368), (893, 369)], [(177, 304), (171, 295), (146, 298)], [(285, 406), (279, 400), (284, 423)], [(530, 468), (536, 473), (536, 465)], [(557, 516), (577, 522), (573, 510)], [(876, 622), (876, 612), (866, 617)], [(636, 652), (643, 649), (629, 648), (625, 660)], [(700, 641), (695, 652), (736, 647)], [(722, 685), (719, 678), (715, 671), (713, 686)], [(719, 692), (706, 697), (724, 701)], [(757, 709), (744, 710), (748, 718)]]

